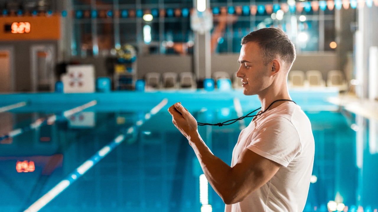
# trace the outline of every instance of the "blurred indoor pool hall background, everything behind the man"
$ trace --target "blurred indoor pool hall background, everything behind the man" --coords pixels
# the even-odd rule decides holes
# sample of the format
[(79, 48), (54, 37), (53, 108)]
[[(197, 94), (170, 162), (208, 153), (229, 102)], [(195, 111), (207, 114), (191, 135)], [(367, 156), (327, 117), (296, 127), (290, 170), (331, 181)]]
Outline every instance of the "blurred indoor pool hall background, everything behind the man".
[[(377, 20), (377, 0), (0, 0), (0, 208), (223, 211), (166, 109), (259, 108), (240, 41), (277, 27), (316, 143), (304, 211), (377, 212)], [(198, 131), (230, 164), (250, 121)]]

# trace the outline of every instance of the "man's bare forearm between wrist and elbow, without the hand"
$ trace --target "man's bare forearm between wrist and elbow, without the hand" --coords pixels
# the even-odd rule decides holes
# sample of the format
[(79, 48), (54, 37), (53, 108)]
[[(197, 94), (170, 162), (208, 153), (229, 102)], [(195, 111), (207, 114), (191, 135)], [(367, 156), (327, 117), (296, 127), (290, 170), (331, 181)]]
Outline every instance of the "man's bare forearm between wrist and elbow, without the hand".
[(212, 154), (198, 132), (189, 136), (188, 141), (197, 155), (202, 170), (212, 188), (226, 203), (231, 198), (232, 187), (235, 186), (231, 173), (232, 168)]

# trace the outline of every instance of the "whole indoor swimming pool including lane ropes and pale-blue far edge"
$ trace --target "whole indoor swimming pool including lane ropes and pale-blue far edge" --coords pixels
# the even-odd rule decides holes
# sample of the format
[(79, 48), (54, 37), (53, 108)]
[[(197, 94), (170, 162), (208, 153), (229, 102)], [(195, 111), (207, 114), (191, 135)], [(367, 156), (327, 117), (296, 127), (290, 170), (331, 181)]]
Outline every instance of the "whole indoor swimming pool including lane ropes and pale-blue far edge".
[[(336, 201), (345, 204), (344, 211), (376, 212), (373, 121), (328, 103), (337, 91), (290, 93), (310, 118), (316, 142), (305, 211), (325, 212)], [(198, 121), (218, 123), (238, 117), (235, 101), (243, 114), (260, 107), (256, 97), (240, 91), (9, 94), (0, 100), (0, 108), (26, 103), (0, 113), (0, 208), (9, 212), (45, 203), (40, 211), (200, 211), (202, 171), (167, 108), (181, 101)], [(78, 106), (82, 111), (70, 113)], [(198, 129), (212, 152), (230, 164), (241, 127), (238, 122)], [(52, 200), (38, 202), (43, 196)], [(224, 210), (210, 186), (208, 203), (212, 211)]]

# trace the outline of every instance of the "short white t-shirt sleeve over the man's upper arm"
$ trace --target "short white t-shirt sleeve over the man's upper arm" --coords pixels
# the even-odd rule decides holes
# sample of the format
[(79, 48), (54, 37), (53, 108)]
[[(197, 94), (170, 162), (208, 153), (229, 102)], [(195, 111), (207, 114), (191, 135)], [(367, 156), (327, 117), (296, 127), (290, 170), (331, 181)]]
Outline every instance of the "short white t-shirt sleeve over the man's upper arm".
[(259, 127), (247, 149), (287, 167), (301, 152), (299, 134), (290, 120), (274, 117)]

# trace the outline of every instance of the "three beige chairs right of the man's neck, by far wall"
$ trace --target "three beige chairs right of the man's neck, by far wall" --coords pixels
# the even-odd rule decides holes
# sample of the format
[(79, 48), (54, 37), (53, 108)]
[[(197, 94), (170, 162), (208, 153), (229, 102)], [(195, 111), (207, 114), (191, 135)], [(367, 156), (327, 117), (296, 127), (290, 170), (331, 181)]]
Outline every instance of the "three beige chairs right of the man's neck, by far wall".
[(339, 70), (328, 71), (327, 83), (323, 79), (323, 75), (320, 71), (299, 71), (293, 70), (289, 72), (288, 77), (289, 87), (337, 87), (340, 91), (345, 91), (348, 88), (348, 84), (344, 78), (344, 75)]

